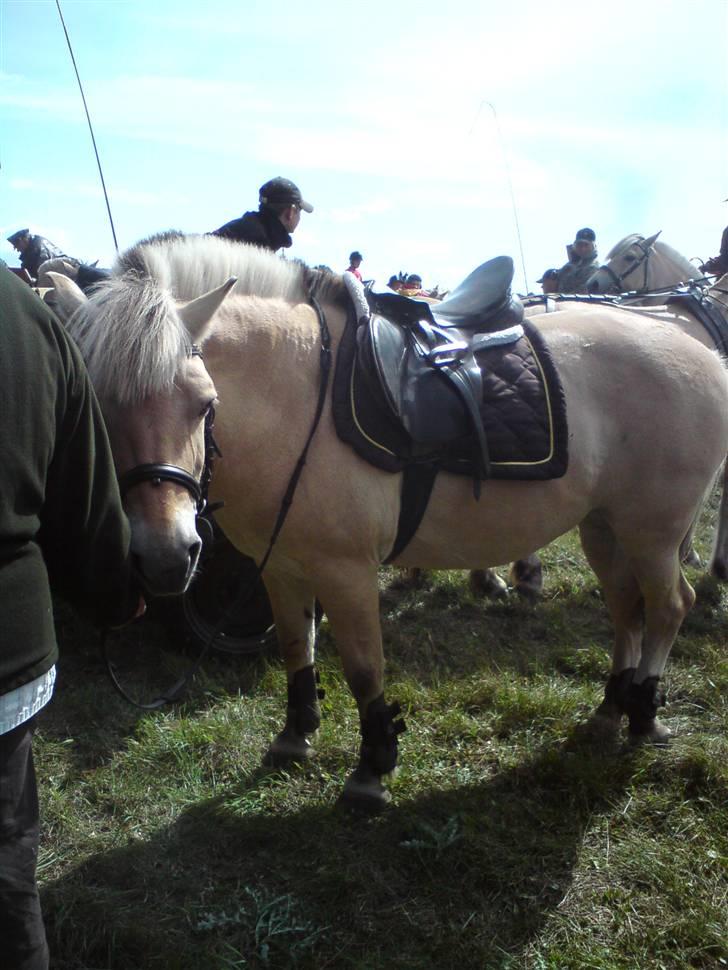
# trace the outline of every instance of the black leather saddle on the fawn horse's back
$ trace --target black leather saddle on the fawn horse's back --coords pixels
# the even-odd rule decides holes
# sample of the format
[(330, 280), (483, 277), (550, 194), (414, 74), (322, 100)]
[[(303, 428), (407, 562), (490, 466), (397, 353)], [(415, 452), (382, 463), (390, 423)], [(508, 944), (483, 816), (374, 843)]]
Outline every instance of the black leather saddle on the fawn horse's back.
[(357, 332), (358, 354), (410, 437), (414, 460), (432, 460), (453, 442), (473, 440), (476, 495), (479, 482), (490, 477), (490, 458), (480, 410), (483, 377), (475, 355), (499, 339), (515, 341), (522, 334), (517, 325), (523, 306), (511, 296), (512, 280), (513, 261), (499, 256), (436, 305), (370, 292), (372, 313)]

